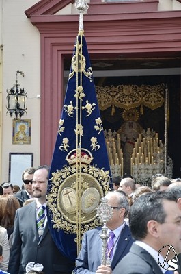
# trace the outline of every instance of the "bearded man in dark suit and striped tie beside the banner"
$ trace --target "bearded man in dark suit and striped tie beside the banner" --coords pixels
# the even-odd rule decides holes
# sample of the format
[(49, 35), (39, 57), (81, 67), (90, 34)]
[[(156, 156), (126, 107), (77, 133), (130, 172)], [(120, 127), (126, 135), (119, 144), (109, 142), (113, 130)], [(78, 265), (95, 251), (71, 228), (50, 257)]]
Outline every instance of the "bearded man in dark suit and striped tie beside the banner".
[[(8, 266), (8, 271), (12, 274), (24, 274), (28, 262), (42, 264), (45, 274), (70, 274), (74, 269), (74, 262), (59, 252), (48, 229), (46, 217), (48, 173), (48, 166), (40, 166), (36, 169), (32, 185), (33, 197), (36, 201), (19, 208), (16, 212)], [(44, 212), (42, 213), (41, 210)]]

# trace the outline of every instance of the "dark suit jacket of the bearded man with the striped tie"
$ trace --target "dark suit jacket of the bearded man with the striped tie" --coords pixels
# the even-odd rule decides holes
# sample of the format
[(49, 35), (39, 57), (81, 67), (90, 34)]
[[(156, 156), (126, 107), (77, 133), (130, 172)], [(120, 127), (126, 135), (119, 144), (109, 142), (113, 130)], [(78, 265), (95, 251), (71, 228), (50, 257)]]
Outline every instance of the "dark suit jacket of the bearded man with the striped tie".
[(48, 223), (39, 240), (36, 202), (29, 203), (16, 211), (8, 272), (24, 274), (28, 262), (42, 264), (45, 274), (72, 273), (74, 269), (74, 262), (63, 256), (55, 246)]

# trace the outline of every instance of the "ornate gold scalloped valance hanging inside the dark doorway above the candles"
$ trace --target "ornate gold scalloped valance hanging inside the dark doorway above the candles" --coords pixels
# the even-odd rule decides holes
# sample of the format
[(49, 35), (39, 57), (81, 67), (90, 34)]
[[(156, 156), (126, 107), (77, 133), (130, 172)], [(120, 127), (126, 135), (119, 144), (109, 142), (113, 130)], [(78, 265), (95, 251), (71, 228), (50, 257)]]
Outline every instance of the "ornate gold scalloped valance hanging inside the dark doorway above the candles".
[(98, 105), (100, 110), (111, 107), (137, 108), (145, 105), (152, 110), (161, 107), (164, 102), (165, 84), (150, 85), (119, 85), (119, 86), (96, 86)]

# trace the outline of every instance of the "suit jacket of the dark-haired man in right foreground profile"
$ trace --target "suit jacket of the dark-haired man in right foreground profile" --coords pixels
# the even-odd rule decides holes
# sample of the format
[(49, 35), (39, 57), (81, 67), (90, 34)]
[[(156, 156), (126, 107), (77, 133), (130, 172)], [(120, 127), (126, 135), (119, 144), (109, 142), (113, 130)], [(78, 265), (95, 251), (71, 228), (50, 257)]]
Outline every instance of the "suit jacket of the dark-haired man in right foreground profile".
[(113, 274), (163, 274), (154, 258), (133, 243), (129, 253), (117, 264)]

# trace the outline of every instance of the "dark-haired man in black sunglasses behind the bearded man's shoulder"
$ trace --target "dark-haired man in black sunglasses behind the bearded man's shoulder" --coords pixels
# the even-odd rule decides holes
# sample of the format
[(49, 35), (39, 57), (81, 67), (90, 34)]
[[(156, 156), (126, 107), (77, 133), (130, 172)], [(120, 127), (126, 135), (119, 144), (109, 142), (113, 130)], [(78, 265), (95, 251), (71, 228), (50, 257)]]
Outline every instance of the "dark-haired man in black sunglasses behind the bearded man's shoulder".
[(23, 190), (17, 192), (14, 196), (18, 199), (20, 206), (23, 206), (23, 203), (33, 198), (33, 190), (32, 190), (32, 183), (33, 183), (33, 174), (36, 171), (33, 167), (25, 169), (22, 174), (23, 180)]

